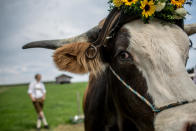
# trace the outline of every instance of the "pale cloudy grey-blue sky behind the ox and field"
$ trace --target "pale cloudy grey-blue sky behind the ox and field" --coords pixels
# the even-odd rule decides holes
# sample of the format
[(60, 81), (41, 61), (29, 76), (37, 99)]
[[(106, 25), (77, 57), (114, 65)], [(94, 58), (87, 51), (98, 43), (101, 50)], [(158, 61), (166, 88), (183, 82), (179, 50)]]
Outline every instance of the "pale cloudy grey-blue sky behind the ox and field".
[[(55, 67), (53, 50), (22, 46), (36, 40), (62, 39), (78, 35), (98, 24), (108, 14), (108, 0), (0, 0), (0, 84), (26, 83), (41, 73), (44, 81), (66, 73), (73, 82), (87, 81), (88, 75), (61, 72)], [(196, 23), (196, 2), (187, 7)], [(196, 35), (191, 37), (196, 47)], [(187, 67), (196, 64), (190, 51)]]

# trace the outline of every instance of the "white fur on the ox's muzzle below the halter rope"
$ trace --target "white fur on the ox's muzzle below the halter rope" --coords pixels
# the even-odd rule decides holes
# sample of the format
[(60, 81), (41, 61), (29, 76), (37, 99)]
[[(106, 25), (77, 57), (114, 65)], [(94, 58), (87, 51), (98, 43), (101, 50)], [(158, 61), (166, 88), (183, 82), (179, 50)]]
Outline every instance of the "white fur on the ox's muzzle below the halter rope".
[(156, 131), (187, 131), (187, 125), (196, 122), (196, 103), (171, 108), (156, 116)]

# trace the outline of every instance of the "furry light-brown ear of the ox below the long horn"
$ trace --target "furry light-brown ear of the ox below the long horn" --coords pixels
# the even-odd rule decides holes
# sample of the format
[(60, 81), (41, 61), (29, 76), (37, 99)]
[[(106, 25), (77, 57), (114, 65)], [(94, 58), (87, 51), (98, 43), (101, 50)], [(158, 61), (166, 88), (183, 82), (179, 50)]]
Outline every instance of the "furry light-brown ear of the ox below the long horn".
[(97, 73), (100, 71), (101, 60), (97, 56), (94, 60), (87, 60), (85, 51), (90, 43), (71, 43), (58, 48), (54, 55), (53, 60), (56, 66), (63, 71), (68, 71), (76, 74), (84, 74), (88, 72)]

